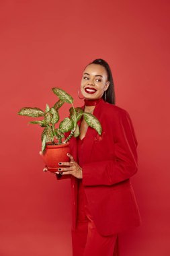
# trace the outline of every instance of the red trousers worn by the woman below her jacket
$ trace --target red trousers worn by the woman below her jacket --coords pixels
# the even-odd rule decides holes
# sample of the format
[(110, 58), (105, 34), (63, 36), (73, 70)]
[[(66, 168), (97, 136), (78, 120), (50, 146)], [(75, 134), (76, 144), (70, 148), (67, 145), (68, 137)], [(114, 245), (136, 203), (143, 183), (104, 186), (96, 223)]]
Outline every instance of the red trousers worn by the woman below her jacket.
[(82, 182), (79, 182), (77, 227), (71, 231), (73, 256), (119, 256), (118, 234), (101, 236), (89, 212)]

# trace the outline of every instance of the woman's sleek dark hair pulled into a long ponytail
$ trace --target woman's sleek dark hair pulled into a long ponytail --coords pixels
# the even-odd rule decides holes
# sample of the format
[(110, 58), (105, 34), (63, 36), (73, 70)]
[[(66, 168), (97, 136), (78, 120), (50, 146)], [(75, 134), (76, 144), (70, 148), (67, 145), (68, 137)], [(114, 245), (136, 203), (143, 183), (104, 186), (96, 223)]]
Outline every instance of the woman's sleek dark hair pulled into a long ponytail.
[[(105, 70), (108, 73), (108, 81), (110, 82), (110, 85), (109, 85), (108, 89), (105, 91), (105, 101), (108, 102), (108, 103), (111, 103), (111, 104), (115, 104), (116, 103), (116, 98), (115, 98), (115, 92), (114, 92), (114, 80), (113, 80), (113, 77), (112, 77), (112, 71), (110, 69), (110, 66), (103, 59), (95, 59), (91, 63), (87, 64), (87, 66), (90, 65), (90, 64), (99, 64), (99, 65), (105, 67)], [(104, 100), (104, 94), (103, 94), (102, 98)]]

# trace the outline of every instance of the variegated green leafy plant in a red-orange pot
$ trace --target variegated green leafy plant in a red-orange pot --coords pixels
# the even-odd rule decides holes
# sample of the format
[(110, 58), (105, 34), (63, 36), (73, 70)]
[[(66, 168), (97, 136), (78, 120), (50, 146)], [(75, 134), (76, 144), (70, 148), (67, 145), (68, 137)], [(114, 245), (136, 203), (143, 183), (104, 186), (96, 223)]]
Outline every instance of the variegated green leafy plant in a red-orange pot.
[[(69, 95), (65, 90), (60, 88), (52, 88), (52, 92), (58, 96), (58, 101), (50, 108), (46, 104), (45, 111), (37, 107), (24, 107), (19, 110), (18, 115), (28, 117), (44, 117), (42, 120), (30, 121), (31, 124), (40, 125), (43, 128), (41, 141), (42, 141), (42, 158), (48, 170), (55, 172), (58, 162), (69, 162), (69, 156), (67, 152), (69, 150), (69, 139), (72, 136), (79, 136), (79, 125), (77, 122), (83, 116), (87, 125), (92, 127), (101, 135), (101, 124), (99, 120), (91, 113), (86, 113), (82, 108), (73, 106), (73, 97)], [(69, 108), (69, 117), (66, 117), (55, 127), (56, 123), (60, 120), (58, 114), (59, 108), (65, 103), (71, 104)], [(71, 131), (68, 137), (65, 137), (65, 133)]]

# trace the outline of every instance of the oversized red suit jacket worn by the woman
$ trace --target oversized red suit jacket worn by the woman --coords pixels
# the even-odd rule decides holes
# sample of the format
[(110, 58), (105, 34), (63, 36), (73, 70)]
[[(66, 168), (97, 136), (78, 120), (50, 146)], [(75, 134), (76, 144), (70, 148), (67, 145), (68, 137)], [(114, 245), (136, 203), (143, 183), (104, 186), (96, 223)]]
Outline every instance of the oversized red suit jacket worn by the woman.
[[(89, 150), (85, 150), (83, 156), (82, 181), (95, 226), (101, 235), (106, 236), (140, 226), (142, 222), (130, 182), (130, 177), (138, 170), (138, 142), (130, 115), (123, 108), (101, 98), (93, 115), (99, 119), (102, 133), (98, 135), (95, 129), (87, 129), (83, 147)], [(69, 143), (71, 154), (79, 163), (77, 138), (71, 137)], [(71, 174), (61, 178), (56, 174), (56, 177), (71, 178), (72, 229), (75, 230), (79, 179)]]

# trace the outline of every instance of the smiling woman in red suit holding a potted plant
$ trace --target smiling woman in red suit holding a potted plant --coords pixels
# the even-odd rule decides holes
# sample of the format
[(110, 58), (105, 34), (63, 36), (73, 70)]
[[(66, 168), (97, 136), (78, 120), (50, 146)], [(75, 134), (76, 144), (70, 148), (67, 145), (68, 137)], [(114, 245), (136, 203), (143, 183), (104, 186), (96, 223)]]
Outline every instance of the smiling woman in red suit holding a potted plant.
[(71, 161), (59, 163), (56, 172), (57, 179), (71, 174), (73, 256), (117, 256), (118, 234), (141, 224), (130, 183), (138, 143), (130, 115), (115, 105), (112, 72), (103, 59), (85, 67), (81, 94), (81, 108), (99, 119), (102, 133), (82, 117), (79, 137), (70, 140)]

